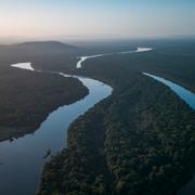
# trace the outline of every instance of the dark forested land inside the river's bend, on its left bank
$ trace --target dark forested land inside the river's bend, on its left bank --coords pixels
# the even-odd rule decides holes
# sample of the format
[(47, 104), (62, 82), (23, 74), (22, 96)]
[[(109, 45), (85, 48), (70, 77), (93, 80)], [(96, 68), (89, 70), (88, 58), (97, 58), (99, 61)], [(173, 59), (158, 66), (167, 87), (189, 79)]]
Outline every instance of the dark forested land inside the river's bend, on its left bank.
[(75, 78), (16, 67), (0, 69), (0, 141), (34, 133), (52, 110), (88, 94)]

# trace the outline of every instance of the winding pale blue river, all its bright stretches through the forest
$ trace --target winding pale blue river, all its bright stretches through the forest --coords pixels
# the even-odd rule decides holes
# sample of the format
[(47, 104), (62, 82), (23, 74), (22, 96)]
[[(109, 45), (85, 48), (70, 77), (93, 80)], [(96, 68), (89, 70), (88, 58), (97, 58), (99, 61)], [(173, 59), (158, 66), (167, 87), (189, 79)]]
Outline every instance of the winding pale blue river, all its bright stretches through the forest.
[[(81, 68), (82, 63), (92, 57), (151, 50), (151, 48), (138, 48), (135, 51), (80, 56), (76, 67)], [(12, 67), (35, 70), (30, 63), (13, 64)], [(194, 93), (160, 77), (143, 74), (170, 87), (181, 99), (195, 108)], [(64, 105), (52, 112), (34, 134), (27, 134), (13, 142), (0, 142), (0, 192), (3, 195), (35, 194), (42, 167), (50, 158), (43, 159), (46, 152), (51, 150), (52, 154), (55, 154), (65, 147), (66, 132), (70, 122), (79, 115), (84, 114), (94, 104), (110, 95), (113, 90), (109, 86), (94, 79), (65, 75), (63, 73), (58, 73), (58, 75), (79, 79), (89, 89), (89, 94), (78, 102)]]

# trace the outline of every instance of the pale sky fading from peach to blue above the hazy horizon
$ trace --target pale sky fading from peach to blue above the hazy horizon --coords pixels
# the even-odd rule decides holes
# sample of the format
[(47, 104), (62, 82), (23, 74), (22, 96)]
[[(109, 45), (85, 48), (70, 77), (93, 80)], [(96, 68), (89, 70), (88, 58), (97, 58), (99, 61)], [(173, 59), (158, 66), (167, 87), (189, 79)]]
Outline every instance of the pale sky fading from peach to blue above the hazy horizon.
[(195, 35), (195, 0), (0, 0), (0, 37), (127, 39)]

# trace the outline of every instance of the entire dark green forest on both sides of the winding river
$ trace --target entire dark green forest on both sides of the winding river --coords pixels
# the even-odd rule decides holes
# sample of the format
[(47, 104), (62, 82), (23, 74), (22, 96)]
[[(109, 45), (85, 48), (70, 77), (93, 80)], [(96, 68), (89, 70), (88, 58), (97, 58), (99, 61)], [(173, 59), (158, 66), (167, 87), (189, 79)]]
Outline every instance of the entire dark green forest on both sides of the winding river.
[[(79, 55), (138, 46), (154, 50), (90, 58), (82, 69), (75, 69)], [(195, 90), (194, 41), (84, 47), (53, 41), (0, 46), (0, 140), (34, 131), (51, 110), (88, 92), (76, 79), (29, 73), (10, 64), (32, 62), (37, 69), (96, 78), (113, 86), (113, 94), (72, 123), (68, 146), (46, 165), (38, 194), (176, 194), (192, 177), (195, 114), (141, 72)]]

